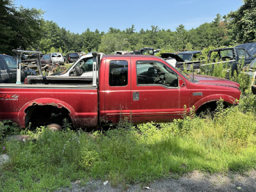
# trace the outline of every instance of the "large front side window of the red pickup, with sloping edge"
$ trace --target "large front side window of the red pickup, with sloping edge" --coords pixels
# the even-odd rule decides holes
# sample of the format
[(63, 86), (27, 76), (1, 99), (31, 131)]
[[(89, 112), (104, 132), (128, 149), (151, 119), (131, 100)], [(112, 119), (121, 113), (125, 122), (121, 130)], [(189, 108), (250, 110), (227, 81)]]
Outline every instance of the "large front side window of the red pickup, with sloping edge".
[(137, 61), (137, 84), (162, 84), (177, 87), (178, 76), (163, 63), (156, 61)]

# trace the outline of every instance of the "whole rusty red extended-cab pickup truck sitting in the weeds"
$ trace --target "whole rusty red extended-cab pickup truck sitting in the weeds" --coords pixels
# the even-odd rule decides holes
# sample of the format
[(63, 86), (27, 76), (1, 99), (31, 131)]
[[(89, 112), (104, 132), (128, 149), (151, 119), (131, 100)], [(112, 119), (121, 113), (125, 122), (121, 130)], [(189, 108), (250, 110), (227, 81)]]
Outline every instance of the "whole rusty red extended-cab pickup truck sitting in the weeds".
[(26, 127), (29, 122), (61, 124), (67, 118), (74, 127), (97, 127), (116, 124), (122, 113), (132, 116), (135, 124), (170, 122), (182, 117), (184, 105), (195, 106), (198, 112), (220, 98), (234, 104), (241, 95), (238, 83), (184, 76), (156, 56), (115, 55), (100, 60), (93, 53), (92, 70), (93, 77), (85, 77), (83, 66), (77, 64), (68, 77), (29, 76), (26, 84), (0, 84), (0, 120)]

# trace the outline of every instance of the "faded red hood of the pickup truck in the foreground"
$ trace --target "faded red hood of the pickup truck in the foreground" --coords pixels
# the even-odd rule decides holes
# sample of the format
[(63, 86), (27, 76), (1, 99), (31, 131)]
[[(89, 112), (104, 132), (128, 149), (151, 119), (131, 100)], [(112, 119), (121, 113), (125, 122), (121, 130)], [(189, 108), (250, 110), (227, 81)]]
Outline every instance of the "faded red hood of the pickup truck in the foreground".
[[(189, 76), (192, 77), (192, 75), (189, 75)], [(239, 88), (239, 83), (230, 81), (228, 79), (223, 79), (220, 77), (200, 76), (200, 75), (195, 75), (194, 77), (199, 80), (198, 84), (214, 84), (214, 85), (220, 85), (220, 86), (232, 86), (234, 88)]]

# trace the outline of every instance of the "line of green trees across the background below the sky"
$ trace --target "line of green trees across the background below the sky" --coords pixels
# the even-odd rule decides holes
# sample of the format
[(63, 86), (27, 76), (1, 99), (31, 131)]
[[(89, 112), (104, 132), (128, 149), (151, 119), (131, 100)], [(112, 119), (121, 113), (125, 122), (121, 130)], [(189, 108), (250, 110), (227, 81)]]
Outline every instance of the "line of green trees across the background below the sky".
[(168, 52), (202, 50), (205, 47), (227, 47), (256, 40), (256, 1), (244, 0), (236, 12), (216, 15), (212, 22), (186, 30), (180, 24), (175, 31), (151, 26), (125, 30), (109, 28), (108, 32), (90, 31), (81, 34), (60, 28), (52, 20), (44, 20), (44, 12), (35, 8), (16, 7), (11, 0), (0, 0), (0, 53), (12, 54), (12, 49), (47, 52), (91, 52), (109, 54), (154, 47)]

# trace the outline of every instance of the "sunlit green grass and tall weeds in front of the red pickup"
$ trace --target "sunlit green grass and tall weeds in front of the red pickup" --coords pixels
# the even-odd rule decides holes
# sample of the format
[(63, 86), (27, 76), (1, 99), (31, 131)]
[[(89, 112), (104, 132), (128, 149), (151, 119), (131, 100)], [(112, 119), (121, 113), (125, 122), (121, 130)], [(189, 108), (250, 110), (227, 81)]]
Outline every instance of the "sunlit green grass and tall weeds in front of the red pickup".
[[(2, 137), (1, 153), (12, 161), (0, 168), (0, 191), (54, 191), (77, 179), (125, 186), (193, 170), (250, 170), (256, 164), (255, 100), (255, 95), (243, 96), (238, 106), (227, 109), (220, 101), (213, 118), (191, 111), (183, 120), (134, 126), (122, 117), (116, 129), (104, 132), (72, 131), (67, 124), (63, 132), (46, 127), (22, 131), (36, 141)], [(5, 125), (1, 122), (1, 132)]]

